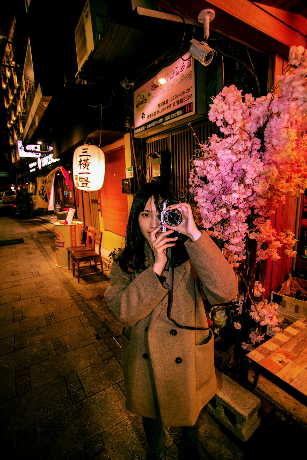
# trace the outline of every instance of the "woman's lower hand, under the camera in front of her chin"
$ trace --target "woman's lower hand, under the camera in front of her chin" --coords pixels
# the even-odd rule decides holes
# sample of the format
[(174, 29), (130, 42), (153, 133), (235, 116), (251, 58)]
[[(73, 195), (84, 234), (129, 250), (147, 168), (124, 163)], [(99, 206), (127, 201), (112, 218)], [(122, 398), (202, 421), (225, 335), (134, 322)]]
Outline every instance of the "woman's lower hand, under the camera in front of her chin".
[(166, 230), (163, 233), (158, 233), (160, 228), (154, 229), (151, 235), (151, 246), (154, 254), (153, 271), (157, 275), (161, 275), (167, 262), (166, 249), (168, 247), (174, 247), (177, 241), (177, 237), (172, 238), (171, 234), (174, 230)]

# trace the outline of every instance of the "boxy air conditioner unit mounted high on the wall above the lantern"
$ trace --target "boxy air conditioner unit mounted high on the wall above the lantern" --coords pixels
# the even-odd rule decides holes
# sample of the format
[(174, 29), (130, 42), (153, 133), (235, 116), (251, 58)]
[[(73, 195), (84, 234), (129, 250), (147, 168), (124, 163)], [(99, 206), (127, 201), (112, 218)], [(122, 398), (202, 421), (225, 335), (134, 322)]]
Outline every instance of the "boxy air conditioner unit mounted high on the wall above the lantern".
[(108, 2), (104, 0), (87, 0), (78, 25), (74, 31), (76, 42), (78, 75), (86, 59), (97, 47), (105, 28), (108, 15)]

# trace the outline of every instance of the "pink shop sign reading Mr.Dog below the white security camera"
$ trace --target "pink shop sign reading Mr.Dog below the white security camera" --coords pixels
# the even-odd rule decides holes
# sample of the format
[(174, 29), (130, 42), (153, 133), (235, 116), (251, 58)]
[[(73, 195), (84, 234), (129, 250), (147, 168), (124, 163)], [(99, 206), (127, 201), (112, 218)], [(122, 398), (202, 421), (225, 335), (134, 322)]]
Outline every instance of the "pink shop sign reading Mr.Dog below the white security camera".
[[(200, 68), (186, 53), (133, 93), (135, 137), (147, 137), (182, 124), (184, 119), (205, 115), (205, 72)], [(202, 100), (197, 98), (198, 89)]]

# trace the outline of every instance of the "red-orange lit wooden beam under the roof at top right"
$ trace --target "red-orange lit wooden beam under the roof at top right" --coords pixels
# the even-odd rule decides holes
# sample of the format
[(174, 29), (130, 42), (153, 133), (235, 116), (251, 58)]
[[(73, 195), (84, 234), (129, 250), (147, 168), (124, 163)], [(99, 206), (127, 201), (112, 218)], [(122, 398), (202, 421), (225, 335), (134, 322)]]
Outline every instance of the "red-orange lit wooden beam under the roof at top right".
[[(306, 47), (307, 20), (301, 15), (284, 11), (283, 18), (273, 16), (273, 11), (265, 11), (263, 5), (246, 0), (153, 0), (167, 11), (195, 21), (205, 8), (215, 11), (210, 29), (239, 41), (264, 54), (280, 54), (288, 57), (290, 46)], [(277, 10), (279, 11), (279, 10)], [(301, 20), (298, 27), (297, 19)], [(289, 19), (289, 21), (287, 21)], [(305, 30), (305, 33), (304, 33)]]

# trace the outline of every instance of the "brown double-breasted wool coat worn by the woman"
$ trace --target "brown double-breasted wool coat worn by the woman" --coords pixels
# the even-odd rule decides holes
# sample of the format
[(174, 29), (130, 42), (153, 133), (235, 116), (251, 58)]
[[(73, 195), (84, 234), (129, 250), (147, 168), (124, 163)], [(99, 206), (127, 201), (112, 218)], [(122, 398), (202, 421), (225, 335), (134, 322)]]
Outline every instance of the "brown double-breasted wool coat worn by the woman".
[[(210, 236), (203, 231), (185, 246), (209, 302), (231, 301), (238, 293), (237, 276)], [(160, 418), (164, 426), (192, 426), (216, 394), (213, 337), (208, 330), (178, 328), (167, 318), (168, 271), (162, 273), (162, 284), (151, 257), (146, 270), (131, 276), (114, 260), (104, 294), (125, 324), (121, 357), (126, 408)], [(181, 325), (208, 327), (189, 261), (174, 269), (171, 317)]]

